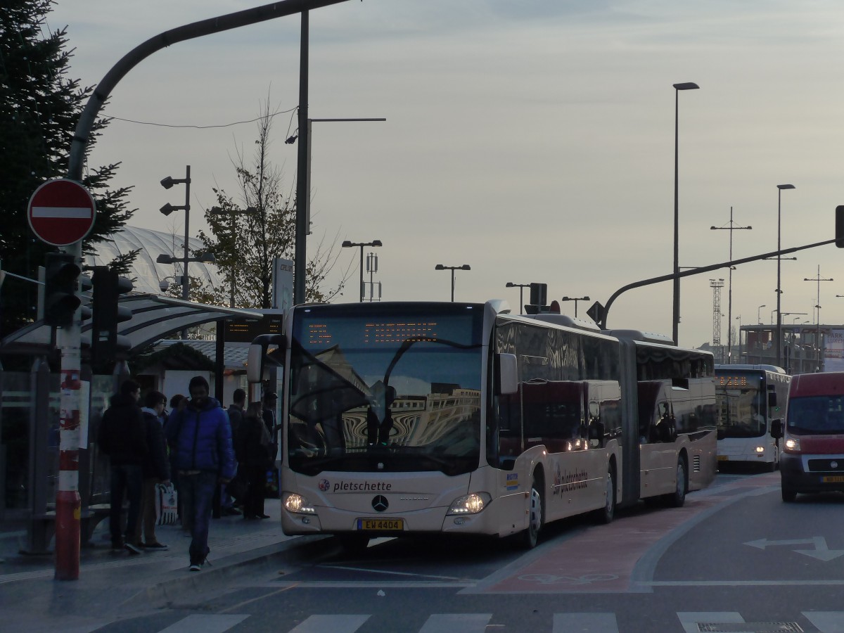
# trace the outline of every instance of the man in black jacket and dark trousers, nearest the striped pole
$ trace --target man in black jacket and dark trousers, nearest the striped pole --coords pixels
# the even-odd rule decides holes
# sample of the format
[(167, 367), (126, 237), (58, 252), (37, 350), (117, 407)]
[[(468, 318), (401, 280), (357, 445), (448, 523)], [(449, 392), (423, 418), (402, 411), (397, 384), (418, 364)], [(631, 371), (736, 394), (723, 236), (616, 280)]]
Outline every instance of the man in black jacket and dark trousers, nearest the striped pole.
[[(124, 381), (120, 393), (112, 396), (97, 433), (100, 451), (111, 461), (111, 549), (125, 548), (130, 554), (141, 553), (135, 542), (135, 527), (141, 506), (143, 457), (148, 452), (143, 416), (138, 407), (140, 395), (141, 386), (137, 382)], [(121, 529), (124, 493), (129, 500), (125, 541)]]

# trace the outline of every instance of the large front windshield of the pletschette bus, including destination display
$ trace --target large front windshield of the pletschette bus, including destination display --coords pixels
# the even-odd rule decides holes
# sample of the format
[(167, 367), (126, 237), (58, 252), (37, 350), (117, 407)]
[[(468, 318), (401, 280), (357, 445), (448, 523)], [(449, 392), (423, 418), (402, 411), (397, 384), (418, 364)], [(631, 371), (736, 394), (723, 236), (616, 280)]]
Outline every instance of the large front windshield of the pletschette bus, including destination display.
[[(468, 473), (478, 467), (481, 306), (355, 317), (302, 309), (289, 366), (289, 468)], [(422, 317), (421, 315), (425, 315)]]

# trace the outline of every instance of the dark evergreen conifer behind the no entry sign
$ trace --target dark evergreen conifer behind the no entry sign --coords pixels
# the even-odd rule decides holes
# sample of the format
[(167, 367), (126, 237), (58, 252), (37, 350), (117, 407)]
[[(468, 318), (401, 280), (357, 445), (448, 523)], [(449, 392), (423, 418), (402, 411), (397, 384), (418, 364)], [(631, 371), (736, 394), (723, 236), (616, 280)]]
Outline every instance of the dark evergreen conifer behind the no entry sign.
[[(35, 238), (26, 219), (30, 196), (42, 182), (65, 176), (78, 117), (93, 87), (68, 78), (67, 27), (51, 30), (46, 16), (54, 0), (4, 0), (0, 10), (0, 261), (3, 270), (37, 279), (46, 252), (56, 248)], [(88, 150), (106, 122), (98, 120)], [(110, 189), (120, 163), (89, 167), (83, 184), (95, 197), (97, 218), (83, 244), (86, 253), (132, 217), (131, 187)], [(112, 262), (126, 273), (134, 253)], [(35, 284), (8, 276), (3, 283), (0, 333), (35, 319)]]

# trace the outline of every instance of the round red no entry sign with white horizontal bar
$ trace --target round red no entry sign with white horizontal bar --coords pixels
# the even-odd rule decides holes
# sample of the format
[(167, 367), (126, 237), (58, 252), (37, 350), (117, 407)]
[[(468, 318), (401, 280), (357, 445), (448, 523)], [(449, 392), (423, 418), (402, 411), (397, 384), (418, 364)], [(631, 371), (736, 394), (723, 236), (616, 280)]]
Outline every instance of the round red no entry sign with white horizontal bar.
[(30, 197), (30, 229), (52, 246), (75, 244), (94, 226), (94, 198), (78, 182), (46, 181)]

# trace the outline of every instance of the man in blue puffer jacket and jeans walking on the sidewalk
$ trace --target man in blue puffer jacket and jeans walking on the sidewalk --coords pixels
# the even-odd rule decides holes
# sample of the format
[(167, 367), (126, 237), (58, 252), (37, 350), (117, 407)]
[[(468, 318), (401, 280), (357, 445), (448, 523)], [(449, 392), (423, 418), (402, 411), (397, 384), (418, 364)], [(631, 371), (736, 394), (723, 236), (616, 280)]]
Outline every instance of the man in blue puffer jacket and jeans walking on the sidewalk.
[(191, 402), (174, 412), (165, 427), (173, 463), (179, 473), (179, 495), (191, 526), (191, 571), (200, 571), (208, 555), (208, 525), (214, 490), (235, 476), (229, 416), (208, 397), (208, 381), (193, 376)]

